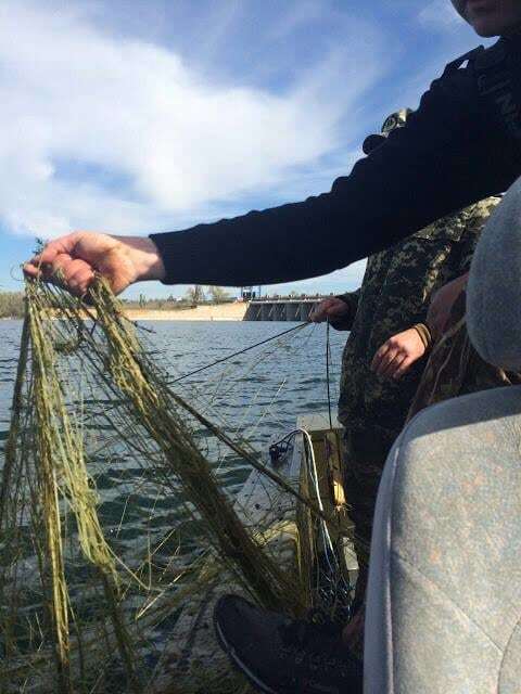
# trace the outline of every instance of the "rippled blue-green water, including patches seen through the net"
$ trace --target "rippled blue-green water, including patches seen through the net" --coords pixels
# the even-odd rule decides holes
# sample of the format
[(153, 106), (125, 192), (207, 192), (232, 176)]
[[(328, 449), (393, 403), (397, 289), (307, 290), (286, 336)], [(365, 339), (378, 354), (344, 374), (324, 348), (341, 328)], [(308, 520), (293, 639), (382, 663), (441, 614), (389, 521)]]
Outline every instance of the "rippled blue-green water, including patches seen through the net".
[[(147, 348), (154, 352), (156, 363), (169, 373), (171, 381), (175, 381), (201, 365), (281, 333), (292, 324), (173, 321), (142, 323), (142, 326)], [(21, 329), (20, 321), (0, 321), (0, 467), (9, 430)], [(338, 397), (338, 376), (344, 342), (345, 333), (331, 333), (333, 410)], [(74, 360), (74, 357), (67, 359)], [(67, 385), (71, 390), (77, 388), (77, 382), (74, 384), (69, 380)], [(263, 452), (267, 461), (269, 444), (294, 428), (298, 414), (327, 409), (326, 327), (306, 326), (245, 355), (233, 357), (226, 364), (182, 380), (174, 384), (173, 388), (228, 432), (247, 439)], [(147, 463), (150, 462), (150, 457), (144, 457), (144, 464), (141, 466), (135, 454), (118, 449), (120, 438), (114, 437), (114, 411), (111, 411), (109, 420), (101, 419), (88, 424), (89, 407), (98, 411), (105, 408), (106, 400), (100, 399), (103, 394), (98, 382), (88, 390), (86, 388), (84, 395), (82, 412), (87, 422), (84, 436), (87, 449), (89, 437), (96, 439), (96, 446), (92, 446), (91, 440), (89, 450), (96, 449), (97, 452), (89, 452), (88, 461), (89, 472), (94, 477), (99, 490), (98, 515), (104, 535), (117, 556), (134, 569), (143, 566), (142, 562), (148, 556), (150, 548), (154, 548), (153, 570), (160, 577), (160, 582), (163, 569), (168, 579), (175, 567), (182, 566), (183, 561), (191, 562), (201, 549), (204, 550), (202, 529), (191, 515), (187, 515), (181, 490), (178, 496), (158, 493), (161, 488), (155, 484), (153, 473), (149, 474), (151, 466)], [(71, 394), (68, 396), (71, 397)], [(205, 432), (199, 432), (198, 436), (204, 444)], [(212, 444), (208, 439), (206, 446), (211, 452), (217, 453), (211, 457), (211, 460), (219, 465), (219, 479), (233, 493), (240, 488), (250, 468), (242, 460), (223, 451), (224, 447), (216, 448), (215, 440)], [(68, 527), (71, 528), (71, 525)], [(27, 542), (24, 543), (23, 534), (21, 535), (22, 542), (17, 550), (21, 565), (18, 574), (23, 575), (20, 584), (27, 593), (24, 597), (28, 603), (27, 609), (30, 614), (30, 611), (35, 611), (36, 614), (36, 611), (41, 609), (38, 602), (40, 588), (29, 536), (30, 532), (27, 534)], [(97, 594), (89, 582), (92, 580), (92, 571), (84, 560), (76, 561), (78, 552), (78, 543), (71, 532), (65, 550), (71, 600), (76, 615), (86, 615), (93, 619), (94, 613), (103, 609), (104, 602), (98, 599), (92, 602), (91, 595)], [(138, 595), (138, 587), (134, 587), (132, 590), (137, 591), (134, 597), (138, 601), (136, 604), (141, 604), (143, 596)], [(37, 602), (33, 604), (35, 596)], [(129, 599), (127, 602), (126, 608), (129, 611), (129, 617), (134, 619), (132, 600)], [(157, 653), (161, 653), (165, 634), (177, 618), (176, 615), (177, 613), (173, 613), (170, 618), (164, 619), (148, 632), (150, 644), (155, 643), (153, 647), (150, 646), (147, 656), (150, 658), (151, 671), (156, 663)], [(117, 668), (114, 669), (115, 676), (118, 672)]]

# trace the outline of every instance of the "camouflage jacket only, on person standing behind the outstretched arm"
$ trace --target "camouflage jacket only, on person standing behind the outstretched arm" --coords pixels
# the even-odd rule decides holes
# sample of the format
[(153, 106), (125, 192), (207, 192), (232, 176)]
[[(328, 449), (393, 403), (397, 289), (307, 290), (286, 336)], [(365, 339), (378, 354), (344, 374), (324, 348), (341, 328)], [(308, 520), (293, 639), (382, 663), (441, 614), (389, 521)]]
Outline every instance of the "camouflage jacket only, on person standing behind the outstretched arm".
[(498, 204), (491, 197), (445, 217), (369, 258), (342, 357), (339, 419), (350, 429), (401, 432), (419, 384), (420, 360), (398, 382), (373, 374), (374, 352), (425, 320), (433, 293), (468, 270), (481, 230)]

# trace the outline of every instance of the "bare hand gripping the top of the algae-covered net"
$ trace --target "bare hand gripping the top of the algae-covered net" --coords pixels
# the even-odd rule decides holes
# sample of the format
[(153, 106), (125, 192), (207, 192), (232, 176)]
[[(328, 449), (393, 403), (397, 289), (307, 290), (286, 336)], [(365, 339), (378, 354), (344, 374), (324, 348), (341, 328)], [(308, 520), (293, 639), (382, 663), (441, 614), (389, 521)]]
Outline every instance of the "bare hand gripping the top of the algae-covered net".
[(165, 268), (153, 241), (76, 231), (49, 242), (24, 265), (28, 277), (41, 277), (82, 296), (94, 279), (105, 278), (115, 294), (142, 280), (162, 280)]

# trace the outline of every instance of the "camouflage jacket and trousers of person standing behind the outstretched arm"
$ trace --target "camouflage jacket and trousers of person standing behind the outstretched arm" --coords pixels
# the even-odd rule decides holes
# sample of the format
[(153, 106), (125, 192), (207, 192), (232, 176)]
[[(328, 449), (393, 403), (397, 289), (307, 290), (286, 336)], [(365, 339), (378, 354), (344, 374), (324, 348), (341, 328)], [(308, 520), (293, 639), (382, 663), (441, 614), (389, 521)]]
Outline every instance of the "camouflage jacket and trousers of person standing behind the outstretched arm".
[(357, 306), (352, 324), (343, 325), (352, 332), (342, 359), (339, 400), (339, 419), (345, 427), (344, 487), (359, 563), (355, 609), (365, 599), (383, 465), (404, 426), (427, 358), (399, 381), (374, 374), (370, 363), (390, 337), (425, 321), (436, 290), (467, 272), (484, 223), (499, 202), (491, 197), (476, 203), (372, 256), (360, 290), (344, 297)]

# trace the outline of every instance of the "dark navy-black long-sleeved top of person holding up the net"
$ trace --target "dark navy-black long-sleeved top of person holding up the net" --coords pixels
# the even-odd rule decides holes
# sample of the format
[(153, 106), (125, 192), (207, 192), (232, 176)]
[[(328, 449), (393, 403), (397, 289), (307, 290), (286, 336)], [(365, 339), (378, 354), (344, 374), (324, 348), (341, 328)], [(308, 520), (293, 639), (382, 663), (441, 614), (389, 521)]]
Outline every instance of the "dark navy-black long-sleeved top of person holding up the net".
[(331, 192), (152, 234), (165, 282), (239, 286), (325, 274), (505, 191), (521, 175), (521, 38), (462, 63), (447, 66), (407, 125)]

